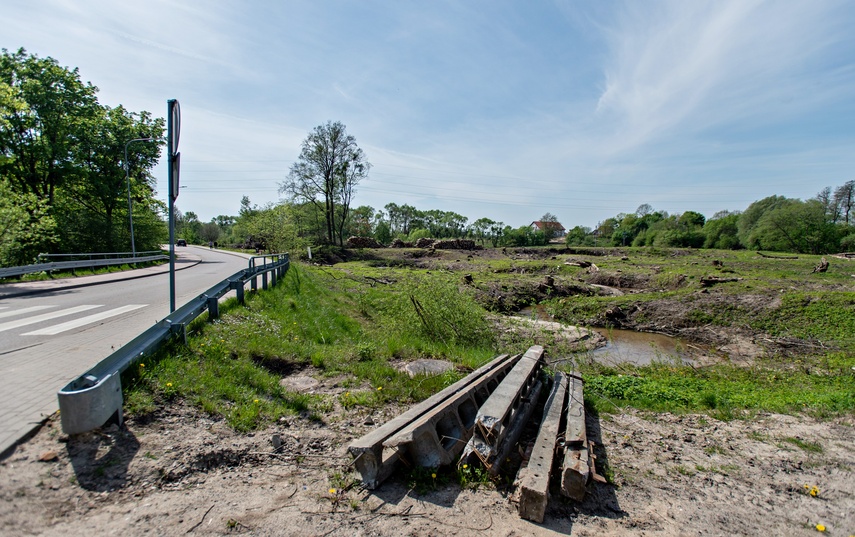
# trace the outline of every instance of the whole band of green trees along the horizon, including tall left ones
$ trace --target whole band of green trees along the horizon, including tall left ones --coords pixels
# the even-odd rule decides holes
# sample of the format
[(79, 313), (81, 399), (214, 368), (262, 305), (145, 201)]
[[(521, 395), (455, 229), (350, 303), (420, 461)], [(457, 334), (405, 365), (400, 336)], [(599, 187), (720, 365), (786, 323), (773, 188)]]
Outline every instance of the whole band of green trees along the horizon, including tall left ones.
[[(138, 250), (166, 239), (166, 210), (151, 170), (164, 145), (164, 120), (111, 108), (77, 69), (24, 49), (0, 54), (0, 265), (31, 263), (41, 252), (128, 251), (130, 219)], [(133, 142), (133, 143), (132, 143)], [(126, 157), (127, 155), (127, 157)], [(179, 237), (266, 251), (344, 245), (350, 236), (382, 244), (422, 237), (471, 238), (485, 246), (539, 246), (555, 227), (512, 227), (488, 217), (388, 203), (351, 207), (371, 163), (341, 122), (313, 129), (279, 184), (284, 199), (259, 207), (246, 196), (238, 215), (201, 222), (176, 211)], [(130, 199), (129, 199), (130, 198)], [(802, 201), (770, 196), (744, 211), (707, 219), (643, 204), (596, 228), (576, 226), (568, 245), (751, 248), (799, 253), (855, 249), (855, 181)], [(557, 223), (551, 213), (543, 222)]]

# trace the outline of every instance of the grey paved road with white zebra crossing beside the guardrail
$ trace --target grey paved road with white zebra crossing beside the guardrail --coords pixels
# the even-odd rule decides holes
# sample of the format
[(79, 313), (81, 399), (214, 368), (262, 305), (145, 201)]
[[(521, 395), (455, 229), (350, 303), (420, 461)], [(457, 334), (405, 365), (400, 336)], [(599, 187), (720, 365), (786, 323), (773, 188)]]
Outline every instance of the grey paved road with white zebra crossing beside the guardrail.
[[(203, 247), (176, 253), (176, 307), (248, 263)], [(168, 265), (0, 285), (0, 459), (56, 412), (57, 391), (168, 314)]]

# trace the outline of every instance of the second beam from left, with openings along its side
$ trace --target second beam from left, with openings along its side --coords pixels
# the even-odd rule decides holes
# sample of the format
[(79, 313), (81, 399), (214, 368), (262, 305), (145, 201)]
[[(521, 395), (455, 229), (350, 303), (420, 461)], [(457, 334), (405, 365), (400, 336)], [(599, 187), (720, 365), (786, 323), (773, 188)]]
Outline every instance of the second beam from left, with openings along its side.
[(399, 457), (416, 466), (436, 468), (453, 463), (472, 437), (478, 407), (490, 397), (515, 363), (506, 360), (472, 382), (465, 391), (450, 396), (413, 420), (384, 441), (383, 446), (396, 450)]

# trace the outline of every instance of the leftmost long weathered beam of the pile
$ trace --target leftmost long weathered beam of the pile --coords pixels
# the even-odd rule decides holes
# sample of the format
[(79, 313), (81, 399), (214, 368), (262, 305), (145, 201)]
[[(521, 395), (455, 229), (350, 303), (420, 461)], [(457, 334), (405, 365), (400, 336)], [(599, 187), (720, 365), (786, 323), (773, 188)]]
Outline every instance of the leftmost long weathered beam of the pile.
[(398, 453), (395, 450), (384, 450), (383, 442), (387, 438), (409, 425), (413, 420), (429, 412), (432, 408), (442, 404), (448, 397), (460, 391), (467, 390), (473, 382), (489, 374), (495, 368), (502, 366), (506, 361), (510, 360), (515, 363), (519, 359), (519, 355), (509, 357), (507, 354), (503, 354), (498, 356), (448, 388), (425, 399), (381, 427), (354, 440), (348, 446), (347, 450), (354, 458), (354, 465), (362, 476), (365, 486), (369, 489), (376, 488), (384, 479), (389, 477), (399, 459)]

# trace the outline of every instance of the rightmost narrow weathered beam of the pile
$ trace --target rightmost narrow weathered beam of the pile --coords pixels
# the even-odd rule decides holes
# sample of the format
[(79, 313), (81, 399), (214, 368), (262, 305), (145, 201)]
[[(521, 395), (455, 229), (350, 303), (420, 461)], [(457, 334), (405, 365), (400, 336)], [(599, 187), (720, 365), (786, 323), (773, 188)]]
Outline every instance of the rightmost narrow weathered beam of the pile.
[(564, 462), (561, 466), (561, 493), (574, 500), (585, 497), (591, 475), (588, 435), (585, 430), (585, 400), (582, 379), (571, 375), (567, 401), (567, 427), (564, 431)]

